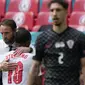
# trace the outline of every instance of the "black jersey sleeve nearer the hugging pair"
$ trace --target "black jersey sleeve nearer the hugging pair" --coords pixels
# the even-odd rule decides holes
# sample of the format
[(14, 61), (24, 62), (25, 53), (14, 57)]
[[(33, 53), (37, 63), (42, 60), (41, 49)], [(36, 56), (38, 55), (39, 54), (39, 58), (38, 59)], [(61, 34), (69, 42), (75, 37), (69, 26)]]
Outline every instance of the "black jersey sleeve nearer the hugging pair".
[(44, 42), (44, 36), (40, 34), (35, 43), (36, 55), (33, 57), (33, 60), (42, 61), (44, 57)]

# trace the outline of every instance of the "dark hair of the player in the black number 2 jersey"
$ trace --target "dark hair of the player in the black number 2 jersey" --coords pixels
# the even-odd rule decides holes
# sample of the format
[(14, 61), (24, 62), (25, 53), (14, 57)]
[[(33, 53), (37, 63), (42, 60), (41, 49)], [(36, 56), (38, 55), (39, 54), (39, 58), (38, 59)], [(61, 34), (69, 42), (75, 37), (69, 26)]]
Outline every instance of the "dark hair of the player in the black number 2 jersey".
[(62, 5), (63, 8), (68, 9), (68, 2), (65, 1), (65, 0), (51, 0), (51, 1), (48, 3), (48, 7), (50, 7), (51, 4), (53, 4), (53, 3), (58, 3), (58, 4)]

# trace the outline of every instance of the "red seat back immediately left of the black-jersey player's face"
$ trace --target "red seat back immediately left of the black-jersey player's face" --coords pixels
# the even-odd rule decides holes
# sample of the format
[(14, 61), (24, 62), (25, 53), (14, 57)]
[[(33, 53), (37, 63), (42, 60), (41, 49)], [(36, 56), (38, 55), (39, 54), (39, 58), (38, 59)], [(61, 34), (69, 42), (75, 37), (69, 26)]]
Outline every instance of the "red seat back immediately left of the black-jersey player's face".
[(48, 25), (52, 23), (49, 12), (40, 12), (37, 18), (37, 25)]

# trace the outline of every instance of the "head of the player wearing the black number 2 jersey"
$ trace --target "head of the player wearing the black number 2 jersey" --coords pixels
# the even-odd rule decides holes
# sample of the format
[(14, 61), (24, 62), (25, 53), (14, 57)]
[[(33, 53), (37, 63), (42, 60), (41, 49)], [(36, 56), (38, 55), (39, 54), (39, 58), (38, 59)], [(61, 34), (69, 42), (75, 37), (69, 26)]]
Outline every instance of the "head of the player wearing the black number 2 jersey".
[(48, 4), (50, 15), (53, 20), (53, 24), (59, 26), (66, 22), (67, 12), (68, 12), (68, 3), (64, 0), (52, 0)]

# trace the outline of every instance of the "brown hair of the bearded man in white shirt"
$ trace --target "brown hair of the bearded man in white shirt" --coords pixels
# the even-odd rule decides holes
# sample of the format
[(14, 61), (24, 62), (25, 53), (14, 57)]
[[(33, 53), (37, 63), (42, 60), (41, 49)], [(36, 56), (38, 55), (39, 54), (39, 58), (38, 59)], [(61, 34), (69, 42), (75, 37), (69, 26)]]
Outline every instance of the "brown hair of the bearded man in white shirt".
[(1, 21), (0, 26), (1, 25), (6, 25), (11, 27), (13, 31), (16, 31), (16, 28), (17, 28), (15, 21), (12, 19), (4, 19), (3, 21)]

